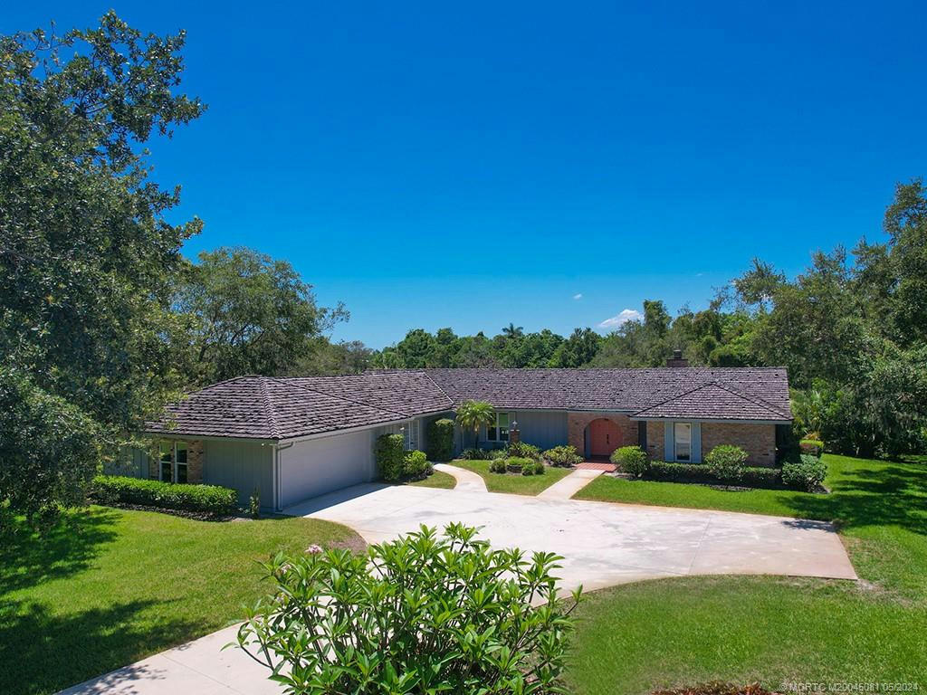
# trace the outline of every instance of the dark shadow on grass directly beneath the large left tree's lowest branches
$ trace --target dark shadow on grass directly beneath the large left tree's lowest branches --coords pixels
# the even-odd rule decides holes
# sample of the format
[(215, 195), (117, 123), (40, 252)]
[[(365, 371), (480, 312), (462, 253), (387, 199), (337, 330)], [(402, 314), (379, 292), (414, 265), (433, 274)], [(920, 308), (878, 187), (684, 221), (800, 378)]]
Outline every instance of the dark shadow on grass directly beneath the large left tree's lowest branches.
[(0, 531), (0, 597), (86, 569), (116, 537), (118, 520), (119, 513), (108, 509), (76, 510), (39, 534), (7, 517)]

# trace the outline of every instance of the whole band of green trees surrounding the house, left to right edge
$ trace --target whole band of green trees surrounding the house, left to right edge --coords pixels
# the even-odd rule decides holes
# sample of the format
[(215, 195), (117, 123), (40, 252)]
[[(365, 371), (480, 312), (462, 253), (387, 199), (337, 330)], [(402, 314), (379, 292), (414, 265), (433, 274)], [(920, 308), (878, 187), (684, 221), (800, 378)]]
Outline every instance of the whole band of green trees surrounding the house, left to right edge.
[(887, 240), (818, 253), (790, 280), (756, 260), (706, 310), (609, 335), (410, 331), (373, 350), (332, 342), (281, 259), (219, 248), (184, 259), (197, 218), (146, 149), (200, 117), (179, 91), (184, 32), (143, 34), (115, 13), (89, 30), (0, 37), (0, 514), (79, 503), (99, 462), (184, 392), (246, 373), (368, 368), (645, 367), (674, 348), (696, 365), (784, 365), (800, 426), (840, 450), (924, 449), (927, 195), (897, 186)]

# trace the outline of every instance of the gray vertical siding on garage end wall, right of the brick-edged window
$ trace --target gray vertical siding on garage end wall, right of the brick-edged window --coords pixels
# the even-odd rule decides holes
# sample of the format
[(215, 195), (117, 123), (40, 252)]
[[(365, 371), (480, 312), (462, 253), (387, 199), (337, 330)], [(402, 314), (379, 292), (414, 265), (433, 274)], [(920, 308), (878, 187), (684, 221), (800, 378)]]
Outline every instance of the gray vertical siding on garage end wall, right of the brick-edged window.
[(207, 485), (234, 487), (238, 503), (248, 504), (255, 489), (260, 494), (260, 506), (273, 507), (273, 447), (253, 442), (203, 442), (203, 482)]

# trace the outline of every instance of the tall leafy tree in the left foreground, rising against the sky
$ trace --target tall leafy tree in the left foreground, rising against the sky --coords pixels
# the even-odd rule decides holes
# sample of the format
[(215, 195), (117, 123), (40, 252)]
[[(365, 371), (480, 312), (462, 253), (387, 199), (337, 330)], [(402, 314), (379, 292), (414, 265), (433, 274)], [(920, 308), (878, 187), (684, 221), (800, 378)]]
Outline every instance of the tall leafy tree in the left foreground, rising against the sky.
[(81, 430), (116, 450), (180, 393), (168, 284), (200, 223), (167, 219), (179, 189), (147, 179), (145, 143), (204, 109), (177, 93), (183, 46), (112, 11), (93, 30), (0, 36), (0, 381), (19, 398), (0, 431), (28, 416), (35, 449), (67, 441), (44, 471), (30, 446), (4, 452), (18, 512), (83, 496), (99, 452)]

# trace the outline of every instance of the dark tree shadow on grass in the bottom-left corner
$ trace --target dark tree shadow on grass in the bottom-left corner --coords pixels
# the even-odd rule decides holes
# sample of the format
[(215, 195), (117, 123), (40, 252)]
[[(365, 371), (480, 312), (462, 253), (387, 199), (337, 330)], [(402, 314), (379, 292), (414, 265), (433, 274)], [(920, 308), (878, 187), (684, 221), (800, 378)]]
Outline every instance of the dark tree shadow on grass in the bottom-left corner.
[[(167, 617), (139, 620), (138, 613), (159, 603), (132, 601), (63, 616), (35, 603), (0, 606), (0, 692), (56, 692), (196, 634), (195, 623)], [(104, 685), (119, 684), (121, 692), (133, 692), (131, 681), (142, 677), (159, 675), (122, 669)]]

